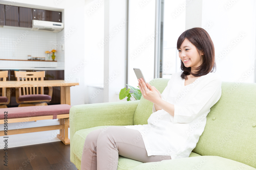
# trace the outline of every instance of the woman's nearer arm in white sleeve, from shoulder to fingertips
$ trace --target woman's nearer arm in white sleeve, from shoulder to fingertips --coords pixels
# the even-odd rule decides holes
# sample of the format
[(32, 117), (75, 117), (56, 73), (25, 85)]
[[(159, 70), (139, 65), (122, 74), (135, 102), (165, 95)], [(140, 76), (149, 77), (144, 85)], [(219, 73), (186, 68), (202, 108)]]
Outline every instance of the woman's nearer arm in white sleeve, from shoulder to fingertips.
[(158, 109), (163, 109), (174, 116), (173, 123), (188, 123), (199, 115), (205, 114), (206, 112), (208, 114), (210, 108), (221, 97), (221, 80), (216, 76), (211, 76), (209, 81), (205, 83), (205, 86), (186, 103), (178, 103), (175, 105), (160, 98), (156, 90), (150, 84), (147, 83), (146, 85), (143, 80), (139, 80), (139, 82), (143, 97), (153, 102)]

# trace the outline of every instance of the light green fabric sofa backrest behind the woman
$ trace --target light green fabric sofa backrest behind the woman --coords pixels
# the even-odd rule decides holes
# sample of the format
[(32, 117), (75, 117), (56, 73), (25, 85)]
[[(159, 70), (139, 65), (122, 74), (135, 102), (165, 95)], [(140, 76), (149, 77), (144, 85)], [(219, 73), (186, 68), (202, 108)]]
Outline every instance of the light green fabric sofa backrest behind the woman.
[[(162, 93), (168, 81), (158, 78), (149, 83)], [(256, 83), (222, 82), (221, 91), (193, 152), (221, 156), (256, 168)], [(152, 107), (153, 103), (142, 96), (134, 125), (147, 124)]]

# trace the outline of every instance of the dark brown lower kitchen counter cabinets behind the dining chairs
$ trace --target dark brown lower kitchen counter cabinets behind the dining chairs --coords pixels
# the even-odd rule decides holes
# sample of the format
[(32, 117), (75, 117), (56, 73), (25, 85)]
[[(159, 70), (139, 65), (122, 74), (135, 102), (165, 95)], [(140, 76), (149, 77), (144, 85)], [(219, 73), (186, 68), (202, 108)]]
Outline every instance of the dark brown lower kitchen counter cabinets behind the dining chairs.
[[(5, 70), (0, 70), (5, 71)], [(8, 70), (8, 77), (6, 81), (16, 81), (14, 71), (45, 71), (44, 80), (64, 80), (64, 70)], [(15, 88), (10, 88), (11, 91), (11, 101), (7, 104), (7, 107), (18, 107), (15, 96)], [(49, 93), (49, 88), (44, 87), (44, 94)], [(2, 89), (0, 89), (0, 95), (2, 96)], [(47, 102), (48, 105), (60, 104), (60, 87), (52, 87), (52, 99)]]

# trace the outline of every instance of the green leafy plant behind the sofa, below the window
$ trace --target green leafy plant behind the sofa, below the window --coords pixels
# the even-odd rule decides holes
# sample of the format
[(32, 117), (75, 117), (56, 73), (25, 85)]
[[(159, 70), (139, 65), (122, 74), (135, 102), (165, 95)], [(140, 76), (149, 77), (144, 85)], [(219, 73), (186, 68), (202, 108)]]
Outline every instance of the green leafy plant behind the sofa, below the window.
[[(120, 93), (119, 93), (119, 99), (122, 100), (125, 97), (127, 97), (127, 101), (131, 101), (131, 97), (133, 96), (135, 98), (135, 100), (140, 100), (141, 99), (141, 90), (138, 88), (135, 88), (133, 86), (130, 86), (128, 84), (126, 84), (128, 87), (128, 89), (126, 89), (126, 87), (124, 87), (123, 89), (121, 89)], [(139, 87), (139, 86), (137, 86)], [(130, 93), (130, 90), (133, 90), (133, 93)]]

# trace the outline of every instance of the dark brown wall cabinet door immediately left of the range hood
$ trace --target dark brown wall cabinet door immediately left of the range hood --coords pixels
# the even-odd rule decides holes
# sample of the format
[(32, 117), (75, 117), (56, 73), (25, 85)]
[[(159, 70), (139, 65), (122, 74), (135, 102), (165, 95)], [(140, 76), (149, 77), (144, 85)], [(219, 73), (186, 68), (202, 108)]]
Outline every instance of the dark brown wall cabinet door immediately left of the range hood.
[(32, 8), (19, 7), (19, 26), (32, 28)]

